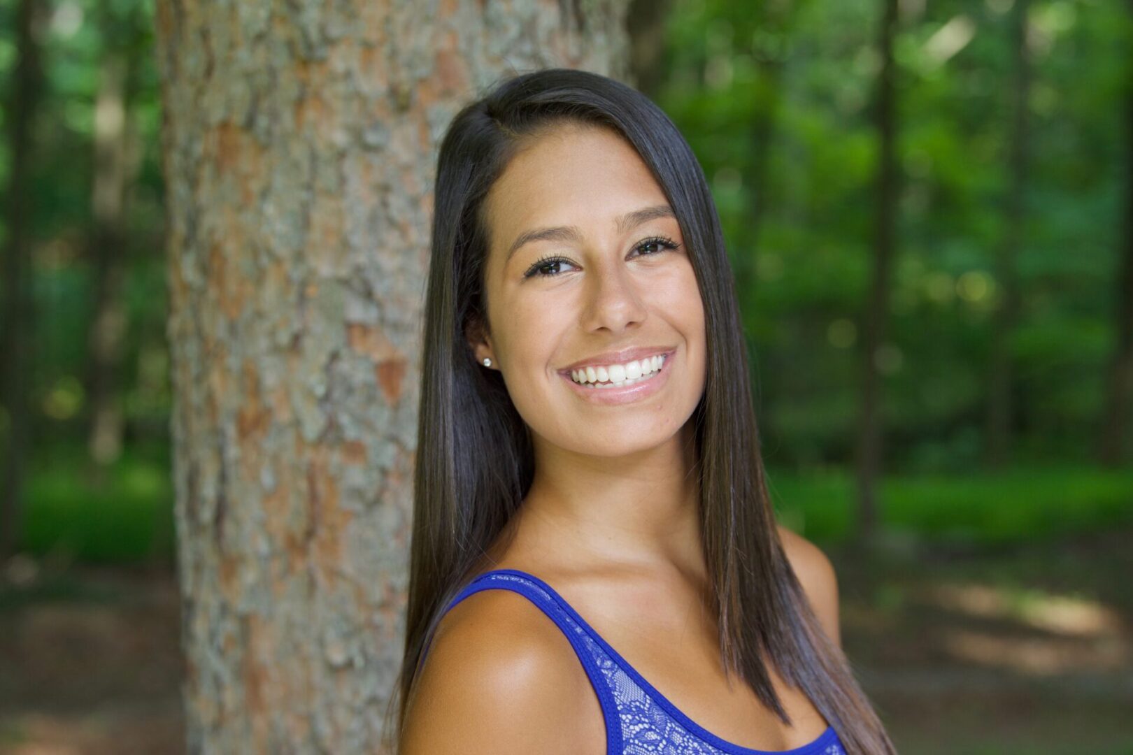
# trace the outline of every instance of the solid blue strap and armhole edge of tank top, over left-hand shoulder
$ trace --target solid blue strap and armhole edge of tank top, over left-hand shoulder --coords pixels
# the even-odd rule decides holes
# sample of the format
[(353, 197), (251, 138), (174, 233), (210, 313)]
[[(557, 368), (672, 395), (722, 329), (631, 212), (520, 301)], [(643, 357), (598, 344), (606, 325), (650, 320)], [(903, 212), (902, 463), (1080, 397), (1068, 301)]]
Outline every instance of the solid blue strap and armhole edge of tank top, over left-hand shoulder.
[[(493, 569), (477, 575), (449, 602), (441, 612), (443, 617), (452, 608), (469, 595), (474, 595), (483, 590), (511, 590), (527, 598), (530, 602), (543, 611), (547, 618), (555, 623), (555, 626), (566, 636), (574, 654), (582, 663), (586, 676), (594, 687), (598, 702), (602, 705), (602, 714), (606, 726), (606, 752), (610, 755), (622, 753), (622, 727), (619, 717), (617, 704), (614, 700), (614, 690), (610, 687), (610, 680), (599, 666), (610, 666), (610, 659), (600, 646), (588, 634), (574, 618), (566, 607), (561, 606), (562, 600), (553, 591), (547, 591), (538, 580), (530, 577), (527, 573), (518, 569)], [(440, 621), (440, 618), (437, 619)], [(426, 652), (428, 649), (426, 647)], [(423, 659), (424, 661), (424, 655)]]

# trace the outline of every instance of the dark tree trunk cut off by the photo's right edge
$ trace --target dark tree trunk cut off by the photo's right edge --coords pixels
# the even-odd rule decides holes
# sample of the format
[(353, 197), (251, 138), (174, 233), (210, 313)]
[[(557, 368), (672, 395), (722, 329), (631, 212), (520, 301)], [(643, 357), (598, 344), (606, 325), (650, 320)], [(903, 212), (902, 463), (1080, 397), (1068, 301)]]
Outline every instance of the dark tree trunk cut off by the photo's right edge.
[[(1133, 10), (1133, 3), (1130, 5)], [(1125, 95), (1125, 162), (1124, 251), (1118, 263), (1116, 284), (1117, 318), (1114, 354), (1106, 384), (1106, 402), (1098, 441), (1098, 458), (1106, 466), (1118, 466), (1125, 461), (1128, 441), (1130, 411), (1133, 409), (1133, 68)]]

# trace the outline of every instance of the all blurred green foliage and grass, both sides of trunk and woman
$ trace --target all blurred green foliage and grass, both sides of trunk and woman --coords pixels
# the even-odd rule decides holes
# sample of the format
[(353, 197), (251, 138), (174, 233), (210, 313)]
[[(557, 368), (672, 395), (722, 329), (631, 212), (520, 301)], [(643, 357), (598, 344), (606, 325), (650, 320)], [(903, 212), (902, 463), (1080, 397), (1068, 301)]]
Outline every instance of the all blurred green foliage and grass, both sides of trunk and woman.
[[(880, 413), (885, 521), (923, 537), (997, 540), (1123, 520), (1133, 482), (1088, 469), (1115, 345), (1116, 265), (1133, 178), (1133, 11), (1032, 0), (1019, 321), (1006, 341), (1020, 470), (987, 478), (983, 427), (996, 258), (1012, 186), (1011, 0), (905, 9), (895, 42), (900, 213)], [(0, 2), (0, 83), (16, 63)], [(876, 0), (674, 0), (654, 93), (697, 153), (742, 284), (765, 455), (784, 516), (808, 534), (852, 524), (860, 321), (870, 290), (878, 138)], [(32, 201), (34, 470), (25, 546), (93, 560), (168, 556), (171, 402), (154, 8), (51, 3)], [(632, 23), (632, 19), (631, 19)], [(118, 293), (126, 453), (95, 480), (86, 454), (95, 102), (126, 62), (134, 129)], [(14, 113), (0, 105), (0, 125)], [(11, 155), (0, 143), (0, 187)], [(2, 224), (2, 218), (0, 218)], [(0, 239), (6, 230), (0, 228)], [(0, 411), (0, 446), (5, 413)], [(1133, 424), (1133, 421), (1131, 421)], [(50, 444), (40, 440), (50, 439)], [(155, 444), (155, 445), (147, 445)], [(159, 451), (145, 451), (157, 448)], [(1124, 486), (1124, 487), (1123, 487)], [(1124, 497), (1123, 497), (1124, 496)]]

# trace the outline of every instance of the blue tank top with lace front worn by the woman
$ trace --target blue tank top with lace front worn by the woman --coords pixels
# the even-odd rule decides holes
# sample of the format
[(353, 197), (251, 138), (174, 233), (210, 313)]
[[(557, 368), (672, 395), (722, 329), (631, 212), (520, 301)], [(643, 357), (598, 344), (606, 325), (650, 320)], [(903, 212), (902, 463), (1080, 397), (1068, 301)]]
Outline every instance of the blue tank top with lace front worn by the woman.
[(485, 572), (457, 593), (444, 612), (474, 593), (499, 589), (530, 600), (566, 635), (602, 704), (607, 755), (845, 755), (834, 727), (793, 749), (751, 749), (721, 739), (668, 702), (551, 585), (527, 572)]

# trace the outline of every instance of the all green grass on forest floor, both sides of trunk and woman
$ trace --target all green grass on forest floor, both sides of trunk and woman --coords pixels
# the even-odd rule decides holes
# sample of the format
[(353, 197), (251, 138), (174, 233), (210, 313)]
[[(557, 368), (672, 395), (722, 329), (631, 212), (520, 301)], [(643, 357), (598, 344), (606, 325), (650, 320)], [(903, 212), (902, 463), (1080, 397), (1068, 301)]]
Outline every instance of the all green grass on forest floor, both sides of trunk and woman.
[[(53, 448), (27, 488), (23, 548), (85, 563), (130, 564), (173, 552), (169, 449), (130, 449), (101, 480), (82, 448)], [(844, 540), (855, 520), (852, 471), (770, 470), (783, 524), (819, 542)], [(1012, 469), (996, 474), (888, 477), (885, 529), (928, 541), (1010, 543), (1133, 523), (1133, 470)]]

